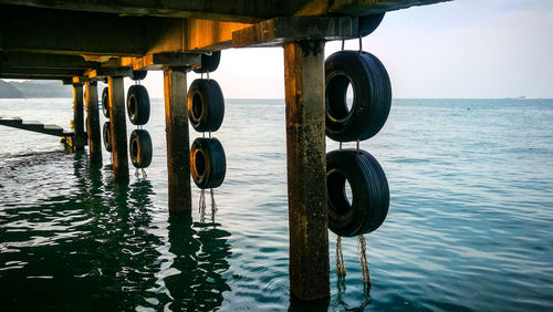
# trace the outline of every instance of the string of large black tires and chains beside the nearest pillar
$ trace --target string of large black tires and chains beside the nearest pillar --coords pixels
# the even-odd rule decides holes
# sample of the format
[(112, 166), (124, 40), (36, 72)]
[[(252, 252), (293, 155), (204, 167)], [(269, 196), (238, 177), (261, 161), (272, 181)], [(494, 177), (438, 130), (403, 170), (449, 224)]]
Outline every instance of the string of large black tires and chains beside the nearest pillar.
[[(342, 236), (357, 236), (357, 252), (363, 272), (364, 291), (368, 294), (371, 272), (364, 233), (376, 230), (386, 218), (389, 188), (376, 158), (359, 148), (359, 141), (376, 135), (389, 114), (392, 87), (382, 62), (363, 51), (362, 37), (372, 33), (384, 14), (358, 19), (358, 51), (338, 51), (325, 61), (326, 136), (337, 141), (340, 150), (327, 154), (328, 228), (336, 233), (336, 275), (344, 283), (346, 269)], [(353, 103), (347, 102), (348, 87)], [(357, 142), (356, 149), (342, 149), (343, 142)], [(346, 195), (352, 188), (352, 200)], [(345, 284), (343, 284), (345, 290)]]

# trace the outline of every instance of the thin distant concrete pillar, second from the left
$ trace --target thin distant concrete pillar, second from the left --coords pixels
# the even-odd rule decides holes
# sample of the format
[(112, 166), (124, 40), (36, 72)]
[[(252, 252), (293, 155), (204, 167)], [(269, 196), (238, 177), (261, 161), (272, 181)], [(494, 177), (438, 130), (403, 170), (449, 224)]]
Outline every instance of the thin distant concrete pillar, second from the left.
[(86, 92), (86, 115), (88, 124), (88, 152), (91, 162), (102, 164), (102, 137), (100, 134), (100, 114), (98, 114), (98, 87), (96, 82), (87, 82), (84, 85)]

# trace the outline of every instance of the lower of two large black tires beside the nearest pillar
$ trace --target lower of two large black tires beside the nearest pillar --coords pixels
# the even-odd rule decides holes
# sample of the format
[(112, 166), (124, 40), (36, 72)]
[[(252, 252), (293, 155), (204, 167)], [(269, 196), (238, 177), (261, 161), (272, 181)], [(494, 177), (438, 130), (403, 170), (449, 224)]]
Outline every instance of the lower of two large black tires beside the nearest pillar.
[[(346, 197), (345, 183), (353, 200)], [(369, 153), (333, 150), (326, 155), (328, 228), (336, 235), (354, 237), (376, 230), (386, 219), (389, 188), (383, 168)]]

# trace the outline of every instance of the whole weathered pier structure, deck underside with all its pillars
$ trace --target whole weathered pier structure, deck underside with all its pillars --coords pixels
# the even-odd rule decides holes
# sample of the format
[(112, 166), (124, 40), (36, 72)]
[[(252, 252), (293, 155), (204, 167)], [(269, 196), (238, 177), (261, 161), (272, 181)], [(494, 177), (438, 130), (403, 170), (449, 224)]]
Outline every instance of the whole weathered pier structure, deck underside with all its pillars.
[[(189, 215), (190, 166), (198, 164), (190, 159), (187, 72), (206, 69), (209, 56), (221, 50), (282, 46), (290, 288), (300, 300), (327, 298), (324, 44), (367, 35), (385, 12), (442, 1), (0, 0), (0, 77), (59, 80), (72, 85), (74, 131), (12, 116), (0, 117), (0, 125), (71, 137), (75, 152), (84, 152), (87, 145), (90, 160), (102, 163), (97, 82), (107, 82), (107, 103), (102, 104), (108, 107), (113, 178), (126, 183), (134, 155), (128, 153), (123, 79), (139, 80), (147, 71), (163, 71), (168, 211)], [(379, 96), (389, 91), (376, 90)]]

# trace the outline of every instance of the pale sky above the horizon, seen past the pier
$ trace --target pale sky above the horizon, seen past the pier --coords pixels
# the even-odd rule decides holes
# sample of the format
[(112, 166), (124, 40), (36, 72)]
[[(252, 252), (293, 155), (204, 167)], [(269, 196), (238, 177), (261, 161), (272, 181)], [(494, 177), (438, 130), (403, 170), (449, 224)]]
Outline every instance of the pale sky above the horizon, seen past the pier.
[[(328, 42), (325, 53), (340, 48)], [(553, 0), (456, 0), (394, 11), (363, 48), (383, 61), (396, 98), (553, 98)], [(210, 77), (227, 98), (283, 98), (282, 48), (225, 50)], [(161, 72), (149, 72), (144, 84), (163, 97)]]

